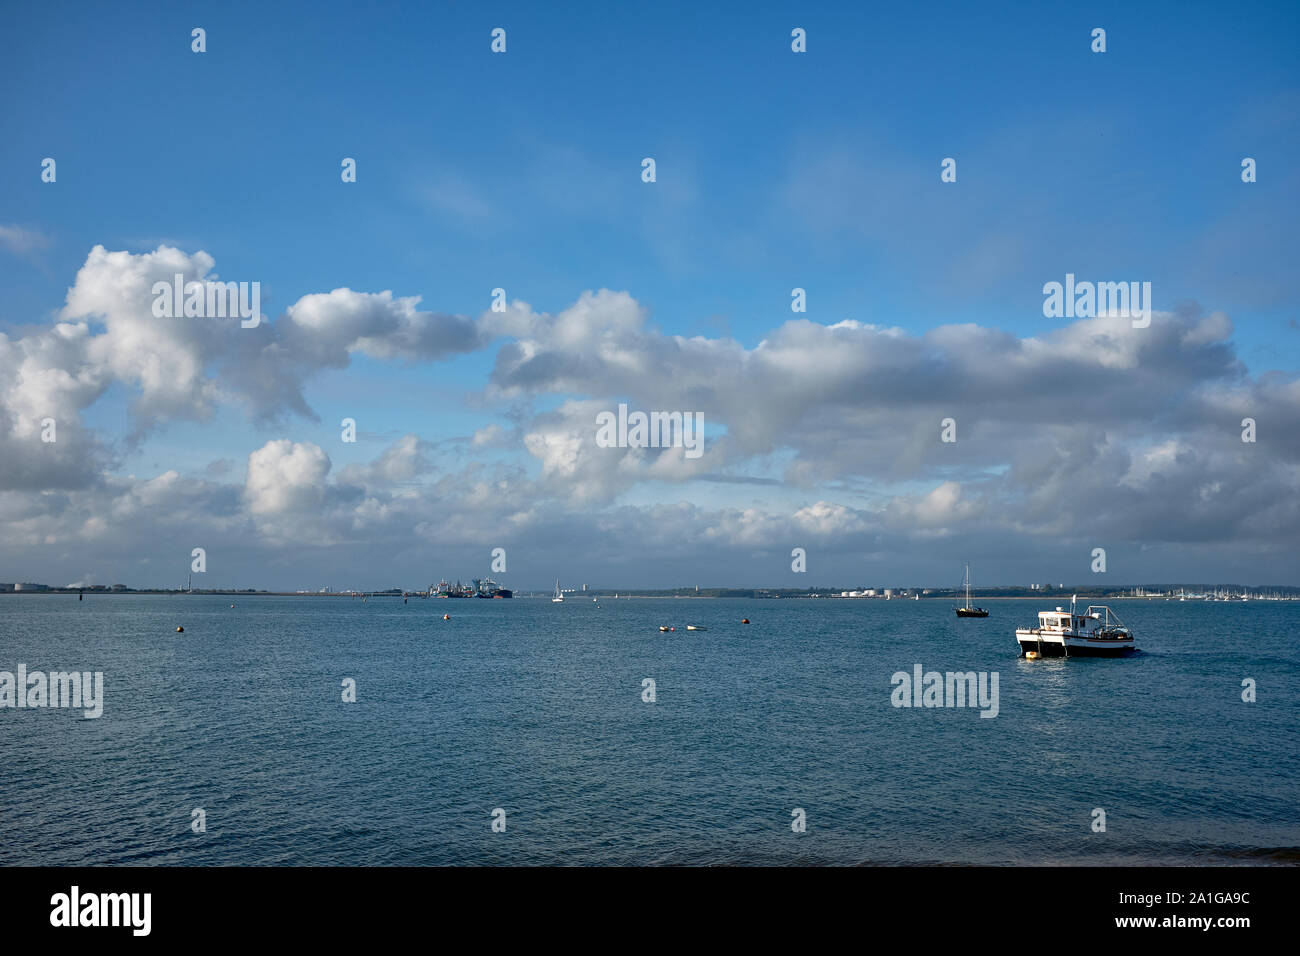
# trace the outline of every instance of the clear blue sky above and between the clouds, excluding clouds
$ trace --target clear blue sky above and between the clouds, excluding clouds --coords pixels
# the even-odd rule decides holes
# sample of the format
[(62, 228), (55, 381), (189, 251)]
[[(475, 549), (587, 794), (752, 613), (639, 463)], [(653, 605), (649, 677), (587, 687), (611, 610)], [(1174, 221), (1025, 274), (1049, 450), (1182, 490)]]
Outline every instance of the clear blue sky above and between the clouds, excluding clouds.
[[(666, 336), (750, 350), (792, 319), (1043, 336), (1066, 323), (1044, 319), (1041, 286), (1072, 272), (1150, 281), (1161, 311), (1223, 312), (1243, 373), (1291, 380), (1297, 16), (1195, 3), (13, 5), (0, 226), (36, 238), (0, 250), (0, 332), (49, 326), (96, 245), (203, 250), (221, 278), (261, 282), (270, 320), (338, 287), (464, 316), (497, 286), (552, 315), (603, 287)], [(504, 55), (489, 51), (497, 26)], [(790, 51), (796, 26), (807, 53)], [(1104, 55), (1089, 49), (1097, 26)], [(46, 156), (57, 183), (40, 182)], [(344, 156), (356, 183), (339, 181)], [(645, 156), (655, 183), (641, 181)], [(946, 156), (956, 183), (939, 179)], [(1244, 156), (1256, 183), (1240, 181)], [(806, 316), (789, 311), (794, 286)], [(337, 473), (407, 433), (437, 445), (523, 414), (486, 394), (497, 367), (497, 347), (354, 355), (306, 382), (320, 421), (218, 405), (199, 427), (150, 423), (139, 444), (126, 441), (131, 382), (79, 412), (120, 477), (196, 476), (216, 459), (238, 471), (278, 438), (326, 447)], [(528, 414), (595, 397), (550, 390)], [(367, 441), (341, 447), (347, 415)], [(493, 454), (536, 472), (517, 447)], [(774, 455), (746, 473), (780, 477), (798, 458)], [(935, 476), (858, 481), (850, 497), (866, 506)], [(722, 507), (734, 488), (625, 496)]]

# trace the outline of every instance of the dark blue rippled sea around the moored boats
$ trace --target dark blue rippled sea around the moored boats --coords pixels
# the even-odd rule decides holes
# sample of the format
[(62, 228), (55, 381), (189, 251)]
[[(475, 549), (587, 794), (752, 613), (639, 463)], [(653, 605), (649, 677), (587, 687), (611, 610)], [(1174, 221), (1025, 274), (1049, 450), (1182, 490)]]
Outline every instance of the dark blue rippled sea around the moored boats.
[(1300, 862), (1300, 602), (1022, 659), (1056, 604), (4, 596), (0, 671), (104, 689), (0, 709), (0, 865)]

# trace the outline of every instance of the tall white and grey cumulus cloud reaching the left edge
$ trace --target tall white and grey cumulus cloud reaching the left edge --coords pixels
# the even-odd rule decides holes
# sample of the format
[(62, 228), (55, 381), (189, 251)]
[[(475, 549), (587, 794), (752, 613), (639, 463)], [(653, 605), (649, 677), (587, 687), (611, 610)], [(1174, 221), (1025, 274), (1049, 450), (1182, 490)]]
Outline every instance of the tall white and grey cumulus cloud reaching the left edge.
[[(12, 228), (5, 235), (22, 238)], [(166, 423), (207, 421), (229, 403), (257, 420), (315, 420), (303, 394), (322, 368), (346, 367), (354, 354), (438, 360), (485, 341), (474, 320), (422, 312), (417, 297), (391, 291), (304, 295), (281, 321), (250, 329), (233, 319), (153, 315), (155, 282), (221, 281), (214, 267), (203, 251), (96, 246), (52, 326), (0, 334), (0, 488), (94, 481), (113, 449), (86, 432), (81, 415), (112, 386), (131, 395), (134, 442)], [(58, 441), (42, 447), (46, 419), (56, 420)]]

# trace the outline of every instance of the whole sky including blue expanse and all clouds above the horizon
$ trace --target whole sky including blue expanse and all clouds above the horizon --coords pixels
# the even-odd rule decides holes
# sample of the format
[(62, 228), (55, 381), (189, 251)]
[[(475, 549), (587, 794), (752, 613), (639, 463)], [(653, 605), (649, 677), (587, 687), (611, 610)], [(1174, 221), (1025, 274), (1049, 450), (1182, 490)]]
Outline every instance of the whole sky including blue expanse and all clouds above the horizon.
[(5, 4), (0, 581), (1300, 584), (1297, 10)]

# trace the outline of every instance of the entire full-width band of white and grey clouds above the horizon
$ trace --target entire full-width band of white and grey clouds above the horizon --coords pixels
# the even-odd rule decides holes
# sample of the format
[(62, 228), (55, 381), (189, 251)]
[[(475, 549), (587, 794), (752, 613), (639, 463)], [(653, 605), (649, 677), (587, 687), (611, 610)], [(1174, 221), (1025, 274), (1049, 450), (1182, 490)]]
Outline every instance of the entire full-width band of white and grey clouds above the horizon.
[[(1300, 532), (1300, 380), (1248, 373), (1218, 312), (1156, 313), (1147, 329), (1084, 319), (1028, 337), (797, 319), (753, 346), (660, 332), (610, 290), (555, 315), (515, 302), (474, 320), (347, 289), (306, 295), (257, 329), (152, 316), (155, 280), (214, 280), (213, 268), (203, 252), (96, 247), (57, 323), (0, 336), (0, 524), (14, 555), (77, 549), (117, 568), (131, 554), (187, 554), (203, 536), (240, 567), (309, 554), (321, 572), (361, 562), (437, 576), (434, 562), (456, 574), (454, 562), (500, 545), (542, 578), (562, 561), (640, 580), (688, 559), (734, 575), (788, 568), (794, 545), (845, 568), (972, 545), (1008, 562), (1078, 561), (1115, 542), (1277, 567)], [(243, 473), (237, 459), (134, 479), (81, 421), (113, 386), (134, 395), (140, 436), (230, 402), (311, 418), (318, 369), (354, 355), (441, 360), (497, 339), (481, 408), (504, 403), (511, 427), (459, 442), (459, 468), (433, 467), (429, 437), (406, 434), (335, 470), (286, 428), (233, 453), (247, 455)], [(597, 446), (595, 416), (619, 402), (701, 412), (705, 454)], [(44, 418), (58, 420), (57, 444), (39, 440)], [(940, 441), (945, 418), (954, 444)], [(1240, 441), (1244, 418), (1254, 444)], [(78, 558), (60, 579), (84, 567)]]

